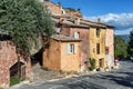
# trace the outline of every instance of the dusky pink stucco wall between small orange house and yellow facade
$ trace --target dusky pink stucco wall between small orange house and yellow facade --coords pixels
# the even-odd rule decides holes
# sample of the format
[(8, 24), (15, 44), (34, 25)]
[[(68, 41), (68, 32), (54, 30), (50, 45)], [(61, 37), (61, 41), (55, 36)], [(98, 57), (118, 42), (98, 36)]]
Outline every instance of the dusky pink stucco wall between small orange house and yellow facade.
[(61, 33), (70, 37), (74, 37), (74, 32), (80, 33), (81, 41), (81, 65), (89, 59), (90, 48), (89, 48), (89, 29), (85, 28), (66, 28), (62, 27)]

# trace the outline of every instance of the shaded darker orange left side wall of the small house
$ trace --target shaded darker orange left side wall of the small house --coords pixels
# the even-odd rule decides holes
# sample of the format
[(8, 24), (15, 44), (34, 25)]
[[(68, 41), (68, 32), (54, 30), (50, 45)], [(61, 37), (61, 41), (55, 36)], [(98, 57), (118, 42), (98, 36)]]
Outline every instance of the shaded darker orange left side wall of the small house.
[(60, 42), (51, 40), (49, 49), (43, 50), (42, 66), (53, 70), (60, 70), (61, 50)]

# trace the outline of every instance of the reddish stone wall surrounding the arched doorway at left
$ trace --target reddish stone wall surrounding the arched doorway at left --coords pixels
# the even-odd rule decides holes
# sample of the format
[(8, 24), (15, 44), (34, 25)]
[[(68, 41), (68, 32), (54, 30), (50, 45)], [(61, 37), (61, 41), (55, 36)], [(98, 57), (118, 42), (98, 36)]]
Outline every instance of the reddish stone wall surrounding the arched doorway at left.
[[(30, 57), (24, 59), (20, 56), (20, 61), (25, 66), (25, 77), (31, 76)], [(8, 88), (10, 85), (10, 68), (18, 62), (16, 46), (11, 41), (0, 41), (0, 87)]]

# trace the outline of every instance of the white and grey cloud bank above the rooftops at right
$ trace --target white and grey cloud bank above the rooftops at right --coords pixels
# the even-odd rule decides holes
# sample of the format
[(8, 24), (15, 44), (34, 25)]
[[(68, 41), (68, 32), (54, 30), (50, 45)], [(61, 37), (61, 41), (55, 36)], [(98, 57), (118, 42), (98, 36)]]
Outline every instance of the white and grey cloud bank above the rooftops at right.
[(96, 17), (84, 17), (84, 19), (96, 21), (98, 18), (101, 18), (101, 21), (108, 24), (114, 26), (115, 33), (129, 34), (133, 30), (133, 13), (108, 13), (104, 16)]

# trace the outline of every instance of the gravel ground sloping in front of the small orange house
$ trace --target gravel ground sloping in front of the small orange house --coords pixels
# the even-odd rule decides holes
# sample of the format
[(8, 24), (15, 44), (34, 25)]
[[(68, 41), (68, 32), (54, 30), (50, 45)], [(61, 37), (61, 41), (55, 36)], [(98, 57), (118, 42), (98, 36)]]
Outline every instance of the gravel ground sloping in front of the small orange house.
[(31, 81), (48, 81), (48, 80), (55, 80), (55, 79), (62, 79), (71, 75), (78, 75), (75, 72), (59, 72), (59, 71), (52, 71), (47, 69), (41, 69), (41, 66), (39, 63), (34, 65), (32, 67), (32, 79)]

